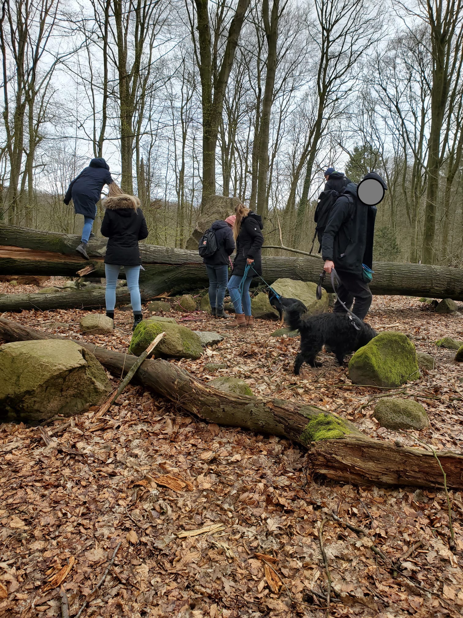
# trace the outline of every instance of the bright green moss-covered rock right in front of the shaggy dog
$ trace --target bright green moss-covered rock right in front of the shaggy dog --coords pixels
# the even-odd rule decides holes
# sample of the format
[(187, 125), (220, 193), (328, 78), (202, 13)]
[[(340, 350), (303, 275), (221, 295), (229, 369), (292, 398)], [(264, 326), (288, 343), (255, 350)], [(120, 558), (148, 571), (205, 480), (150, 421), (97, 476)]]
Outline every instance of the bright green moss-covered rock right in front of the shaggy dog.
[(402, 386), (419, 375), (415, 346), (401, 332), (380, 332), (349, 362), (349, 378), (354, 384)]

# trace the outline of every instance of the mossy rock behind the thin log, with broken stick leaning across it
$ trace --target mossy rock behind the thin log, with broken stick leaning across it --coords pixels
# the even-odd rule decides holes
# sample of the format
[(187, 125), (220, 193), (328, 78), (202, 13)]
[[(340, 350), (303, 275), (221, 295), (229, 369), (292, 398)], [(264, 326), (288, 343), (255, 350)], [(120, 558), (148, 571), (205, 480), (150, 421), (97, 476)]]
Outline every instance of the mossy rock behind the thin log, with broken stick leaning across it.
[(165, 336), (154, 348), (155, 357), (201, 358), (202, 346), (198, 335), (186, 326), (156, 319), (142, 320), (138, 324), (128, 351), (139, 356), (161, 332), (165, 332)]

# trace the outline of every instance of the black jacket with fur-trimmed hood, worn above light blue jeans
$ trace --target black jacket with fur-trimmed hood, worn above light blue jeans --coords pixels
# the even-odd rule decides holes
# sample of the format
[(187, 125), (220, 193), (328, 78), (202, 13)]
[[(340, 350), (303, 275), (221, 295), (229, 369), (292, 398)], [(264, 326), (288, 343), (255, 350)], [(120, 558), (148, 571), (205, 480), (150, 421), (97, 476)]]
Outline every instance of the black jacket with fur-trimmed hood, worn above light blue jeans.
[(103, 205), (106, 212), (101, 223), (101, 234), (109, 239), (104, 263), (118, 266), (140, 265), (138, 241), (148, 236), (148, 227), (140, 208), (135, 210), (123, 195), (109, 197), (104, 200)]

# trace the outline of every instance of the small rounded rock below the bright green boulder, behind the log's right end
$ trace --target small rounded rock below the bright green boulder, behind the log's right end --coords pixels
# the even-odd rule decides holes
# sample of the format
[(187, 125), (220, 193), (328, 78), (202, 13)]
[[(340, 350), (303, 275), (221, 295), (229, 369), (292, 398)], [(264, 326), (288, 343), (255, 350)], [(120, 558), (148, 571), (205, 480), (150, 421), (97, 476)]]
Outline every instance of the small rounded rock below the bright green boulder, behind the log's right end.
[(375, 405), (373, 417), (386, 429), (422, 430), (429, 426), (425, 408), (412, 399), (383, 397)]

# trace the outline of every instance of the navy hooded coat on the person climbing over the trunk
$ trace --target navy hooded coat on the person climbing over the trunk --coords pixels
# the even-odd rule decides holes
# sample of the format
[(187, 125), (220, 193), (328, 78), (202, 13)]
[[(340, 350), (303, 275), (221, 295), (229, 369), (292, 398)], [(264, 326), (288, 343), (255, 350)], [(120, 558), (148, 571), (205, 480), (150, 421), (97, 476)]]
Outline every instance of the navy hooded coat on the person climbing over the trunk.
[(104, 159), (91, 159), (88, 167), (72, 180), (64, 196), (67, 205), (72, 201), (76, 214), (95, 218), (96, 202), (101, 197), (104, 185), (111, 185), (112, 177), (109, 173), (109, 165)]

